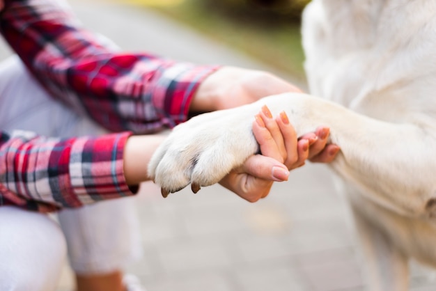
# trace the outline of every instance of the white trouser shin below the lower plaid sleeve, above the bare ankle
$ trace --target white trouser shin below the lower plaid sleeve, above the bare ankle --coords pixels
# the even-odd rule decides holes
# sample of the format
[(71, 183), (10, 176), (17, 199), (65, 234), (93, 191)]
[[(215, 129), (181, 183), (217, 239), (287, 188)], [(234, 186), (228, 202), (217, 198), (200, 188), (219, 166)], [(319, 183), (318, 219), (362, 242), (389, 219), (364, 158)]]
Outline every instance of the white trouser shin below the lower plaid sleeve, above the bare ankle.
[(141, 255), (132, 197), (118, 200), (65, 209), (59, 214), (76, 274), (120, 270)]

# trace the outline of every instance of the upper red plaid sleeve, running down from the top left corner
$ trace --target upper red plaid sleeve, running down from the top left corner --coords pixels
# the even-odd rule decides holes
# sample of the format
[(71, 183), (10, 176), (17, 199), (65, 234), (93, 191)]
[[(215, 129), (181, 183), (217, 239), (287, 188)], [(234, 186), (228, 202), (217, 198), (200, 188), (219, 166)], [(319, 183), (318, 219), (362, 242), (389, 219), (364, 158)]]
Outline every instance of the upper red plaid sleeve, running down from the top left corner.
[(111, 131), (155, 132), (185, 121), (196, 88), (217, 69), (120, 53), (56, 0), (5, 4), (0, 31), (42, 86)]

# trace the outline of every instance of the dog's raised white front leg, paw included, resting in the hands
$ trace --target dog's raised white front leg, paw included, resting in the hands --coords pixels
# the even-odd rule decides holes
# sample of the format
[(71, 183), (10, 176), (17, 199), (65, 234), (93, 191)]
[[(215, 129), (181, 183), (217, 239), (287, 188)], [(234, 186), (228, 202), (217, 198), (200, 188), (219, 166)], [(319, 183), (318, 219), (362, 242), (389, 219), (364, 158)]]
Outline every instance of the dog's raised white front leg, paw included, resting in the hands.
[(436, 200), (436, 163), (429, 158), (436, 154), (433, 124), (417, 124), (417, 118), (416, 124), (387, 123), (299, 93), (266, 97), (179, 125), (151, 159), (150, 177), (171, 192), (189, 182), (219, 182), (258, 149), (251, 123), (264, 104), (274, 116), (286, 111), (298, 135), (319, 125), (330, 127), (332, 142), (341, 147), (332, 166), (368, 198), (402, 214), (430, 216), (426, 212), (433, 211)]

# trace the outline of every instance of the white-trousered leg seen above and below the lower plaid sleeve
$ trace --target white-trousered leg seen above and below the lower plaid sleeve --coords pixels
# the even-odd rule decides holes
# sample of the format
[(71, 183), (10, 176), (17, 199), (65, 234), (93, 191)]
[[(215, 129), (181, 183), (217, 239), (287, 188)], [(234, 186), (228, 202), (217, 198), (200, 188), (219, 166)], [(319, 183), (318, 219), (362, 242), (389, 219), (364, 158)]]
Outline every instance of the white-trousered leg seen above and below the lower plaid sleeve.
[[(16, 56), (0, 65), (0, 128), (60, 137), (105, 132), (49, 97)], [(107, 200), (59, 213), (75, 272), (111, 272), (139, 257), (139, 227), (133, 199)]]

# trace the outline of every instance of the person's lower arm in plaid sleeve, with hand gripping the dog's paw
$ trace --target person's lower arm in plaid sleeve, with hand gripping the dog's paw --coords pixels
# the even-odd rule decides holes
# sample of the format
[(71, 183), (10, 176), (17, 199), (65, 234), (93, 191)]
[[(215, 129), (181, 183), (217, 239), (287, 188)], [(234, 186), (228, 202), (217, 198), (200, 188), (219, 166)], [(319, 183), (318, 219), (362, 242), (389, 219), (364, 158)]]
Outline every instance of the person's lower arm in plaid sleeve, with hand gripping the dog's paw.
[[(300, 166), (308, 155), (304, 147), (309, 140), (297, 141), (292, 127), (281, 124), (285, 129), (280, 130), (288, 136), (288, 150), (283, 151), (280, 136), (274, 140), (268, 137), (274, 124), (267, 120), (267, 125), (268, 129), (254, 123), (265, 156), (251, 157), (221, 181), (251, 202), (265, 197), (272, 181), (286, 180), (288, 168)], [(164, 135), (132, 136), (130, 132), (72, 139), (1, 132), (0, 205), (52, 212), (132, 196), (140, 182), (149, 180), (145, 165), (164, 139)], [(291, 156), (298, 158), (286, 158)]]

